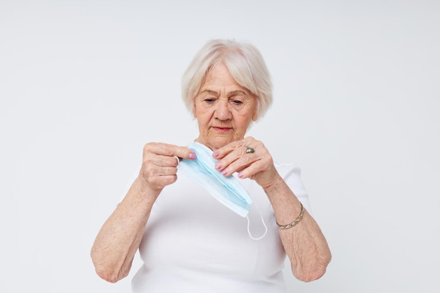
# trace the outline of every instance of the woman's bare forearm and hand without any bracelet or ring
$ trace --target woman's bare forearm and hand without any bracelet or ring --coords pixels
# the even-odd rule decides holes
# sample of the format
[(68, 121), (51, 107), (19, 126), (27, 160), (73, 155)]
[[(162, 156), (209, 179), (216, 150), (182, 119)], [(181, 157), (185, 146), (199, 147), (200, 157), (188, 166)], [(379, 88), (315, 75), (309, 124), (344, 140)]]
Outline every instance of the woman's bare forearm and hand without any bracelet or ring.
[(174, 156), (194, 159), (195, 153), (164, 143), (145, 145), (138, 178), (105, 221), (91, 248), (96, 273), (104, 280), (117, 282), (129, 274), (155, 200), (177, 179), (179, 162)]

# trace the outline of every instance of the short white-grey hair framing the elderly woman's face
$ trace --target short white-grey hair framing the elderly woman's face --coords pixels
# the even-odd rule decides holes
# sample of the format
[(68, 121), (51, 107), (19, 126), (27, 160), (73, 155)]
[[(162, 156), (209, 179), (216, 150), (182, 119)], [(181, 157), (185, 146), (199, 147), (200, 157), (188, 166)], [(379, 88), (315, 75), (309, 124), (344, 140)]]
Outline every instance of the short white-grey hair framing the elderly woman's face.
[(186, 108), (193, 113), (194, 98), (209, 71), (218, 63), (224, 63), (235, 82), (257, 98), (257, 119), (263, 117), (273, 99), (271, 75), (254, 45), (234, 39), (209, 40), (195, 54), (182, 76), (182, 98)]

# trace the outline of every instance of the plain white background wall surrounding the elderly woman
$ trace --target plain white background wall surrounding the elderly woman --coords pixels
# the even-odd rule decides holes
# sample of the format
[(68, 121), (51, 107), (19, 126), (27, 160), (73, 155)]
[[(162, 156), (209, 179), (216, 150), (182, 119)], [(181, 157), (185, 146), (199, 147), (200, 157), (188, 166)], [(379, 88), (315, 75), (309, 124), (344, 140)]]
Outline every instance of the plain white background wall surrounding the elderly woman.
[[(160, 2), (160, 4), (159, 4)], [(332, 250), (290, 292), (439, 289), (438, 1), (0, 2), (0, 292), (129, 292), (94, 237), (149, 141), (188, 143), (180, 77), (255, 44), (275, 101), (250, 134), (295, 162)]]

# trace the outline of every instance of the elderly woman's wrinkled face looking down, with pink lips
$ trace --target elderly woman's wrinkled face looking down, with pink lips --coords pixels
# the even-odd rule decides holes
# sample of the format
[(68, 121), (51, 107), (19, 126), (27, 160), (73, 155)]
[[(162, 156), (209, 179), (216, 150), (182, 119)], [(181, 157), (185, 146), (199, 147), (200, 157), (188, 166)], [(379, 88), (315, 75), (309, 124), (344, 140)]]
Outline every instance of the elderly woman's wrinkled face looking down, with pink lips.
[(194, 104), (200, 133), (195, 141), (212, 150), (244, 138), (257, 119), (254, 95), (235, 82), (224, 63), (209, 72)]

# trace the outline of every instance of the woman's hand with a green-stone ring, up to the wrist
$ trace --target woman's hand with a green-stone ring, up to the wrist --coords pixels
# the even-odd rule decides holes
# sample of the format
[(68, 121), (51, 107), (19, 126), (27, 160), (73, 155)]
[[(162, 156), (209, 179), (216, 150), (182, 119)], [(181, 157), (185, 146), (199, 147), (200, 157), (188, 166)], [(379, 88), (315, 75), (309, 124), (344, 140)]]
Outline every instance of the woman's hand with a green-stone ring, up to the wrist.
[[(250, 148), (254, 151), (248, 152)], [(212, 156), (219, 159), (215, 167), (224, 176), (238, 172), (238, 177), (251, 178), (262, 188), (271, 186), (278, 176), (271, 154), (261, 141), (250, 136), (228, 143)]]

